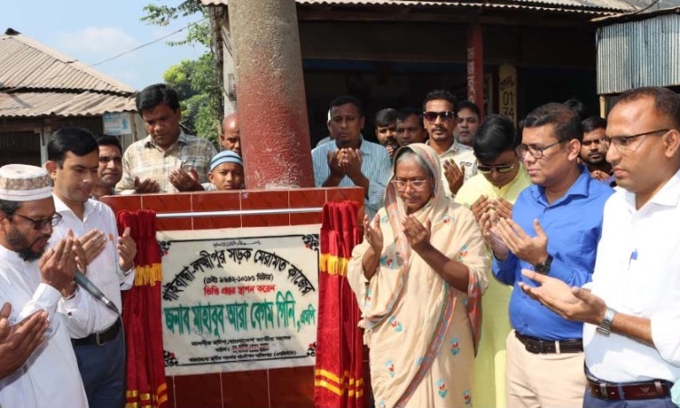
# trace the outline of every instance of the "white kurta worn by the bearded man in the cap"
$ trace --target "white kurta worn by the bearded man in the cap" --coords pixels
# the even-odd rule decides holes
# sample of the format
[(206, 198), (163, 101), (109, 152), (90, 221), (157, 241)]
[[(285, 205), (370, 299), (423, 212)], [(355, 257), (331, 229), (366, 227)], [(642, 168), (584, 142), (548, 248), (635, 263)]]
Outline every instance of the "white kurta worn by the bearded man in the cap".
[[(65, 318), (56, 313), (59, 291), (40, 283), (38, 262), (25, 262), (0, 246), (0, 304), (12, 305), (10, 319), (44, 309), (53, 335), (28, 358), (23, 367), (0, 380), (0, 406), (87, 407), (87, 396), (73, 354)], [(76, 298), (81, 297), (79, 293)]]

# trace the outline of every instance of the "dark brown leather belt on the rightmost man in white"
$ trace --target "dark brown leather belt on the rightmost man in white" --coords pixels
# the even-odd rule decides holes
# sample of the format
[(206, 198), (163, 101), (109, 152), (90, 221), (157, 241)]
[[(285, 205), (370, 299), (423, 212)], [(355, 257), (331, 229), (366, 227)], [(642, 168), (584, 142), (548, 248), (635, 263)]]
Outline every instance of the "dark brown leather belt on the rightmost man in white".
[(673, 383), (665, 380), (652, 380), (639, 383), (607, 383), (586, 370), (588, 392), (599, 400), (649, 400), (670, 396)]

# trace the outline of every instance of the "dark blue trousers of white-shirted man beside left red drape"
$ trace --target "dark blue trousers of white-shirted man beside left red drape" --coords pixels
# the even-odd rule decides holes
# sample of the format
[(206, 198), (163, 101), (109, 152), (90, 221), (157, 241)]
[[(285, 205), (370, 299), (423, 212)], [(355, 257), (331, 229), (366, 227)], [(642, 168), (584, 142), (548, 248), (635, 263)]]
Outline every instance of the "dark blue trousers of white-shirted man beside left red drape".
[(105, 345), (73, 347), (90, 408), (125, 406), (124, 347), (122, 330)]

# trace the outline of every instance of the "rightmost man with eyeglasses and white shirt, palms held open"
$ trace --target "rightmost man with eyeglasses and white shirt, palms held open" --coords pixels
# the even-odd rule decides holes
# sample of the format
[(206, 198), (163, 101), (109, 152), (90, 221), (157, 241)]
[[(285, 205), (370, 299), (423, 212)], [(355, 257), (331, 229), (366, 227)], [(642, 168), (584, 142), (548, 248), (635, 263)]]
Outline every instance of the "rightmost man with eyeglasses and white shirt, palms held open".
[(624, 92), (607, 119), (617, 191), (604, 211), (593, 281), (531, 271), (522, 289), (583, 329), (588, 407), (672, 406), (680, 379), (680, 97)]

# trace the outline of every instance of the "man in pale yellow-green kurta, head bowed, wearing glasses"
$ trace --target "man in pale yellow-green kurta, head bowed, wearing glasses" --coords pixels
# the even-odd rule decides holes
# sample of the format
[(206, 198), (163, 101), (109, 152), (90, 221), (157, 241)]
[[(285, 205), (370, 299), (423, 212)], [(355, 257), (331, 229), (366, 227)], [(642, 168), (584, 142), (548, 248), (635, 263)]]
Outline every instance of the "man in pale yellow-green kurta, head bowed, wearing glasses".
[[(462, 185), (455, 201), (472, 210), (481, 230), (499, 218), (512, 218), (512, 206), (531, 184), (515, 153), (519, 142), (515, 124), (501, 115), (488, 115), (474, 138), (478, 174)], [(490, 268), (491, 269), (491, 268)], [(491, 275), (491, 270), (489, 271)], [(508, 305), (512, 288), (496, 279), (481, 298), (481, 341), (474, 360), (472, 401), (477, 406), (508, 406), (505, 402), (505, 341), (510, 333)], [(498, 381), (497, 381), (498, 380)]]

